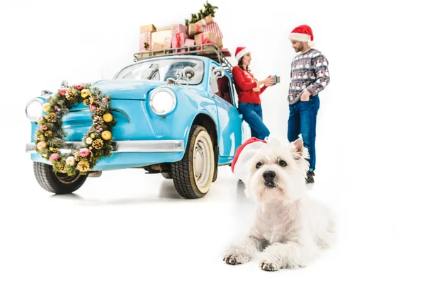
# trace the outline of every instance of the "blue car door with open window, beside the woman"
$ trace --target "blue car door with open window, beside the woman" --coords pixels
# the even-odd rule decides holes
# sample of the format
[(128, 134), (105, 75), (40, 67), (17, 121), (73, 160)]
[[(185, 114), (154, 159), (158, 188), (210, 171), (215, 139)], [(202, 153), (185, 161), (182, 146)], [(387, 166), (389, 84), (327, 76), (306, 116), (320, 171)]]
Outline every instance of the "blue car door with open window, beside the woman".
[(209, 91), (217, 105), (219, 155), (233, 157), (242, 144), (242, 117), (234, 101), (231, 77), (227, 73), (222, 78), (214, 77), (216, 67), (212, 65), (210, 68)]

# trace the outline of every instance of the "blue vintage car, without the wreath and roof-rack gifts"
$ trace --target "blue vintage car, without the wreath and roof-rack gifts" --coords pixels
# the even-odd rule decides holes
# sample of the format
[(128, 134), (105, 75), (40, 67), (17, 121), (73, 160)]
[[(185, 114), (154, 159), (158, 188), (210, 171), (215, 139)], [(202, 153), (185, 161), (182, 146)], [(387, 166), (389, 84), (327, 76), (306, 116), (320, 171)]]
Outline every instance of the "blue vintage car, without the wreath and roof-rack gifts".
[[(231, 65), (220, 50), (216, 54), (213, 58), (191, 52), (142, 58), (113, 79), (94, 83), (92, 88), (111, 95), (117, 124), (112, 156), (101, 158), (85, 175), (55, 173), (50, 161), (35, 151), (36, 121), (52, 93), (30, 100), (26, 115), (32, 125), (31, 142), (26, 151), (40, 186), (56, 194), (71, 193), (102, 171), (143, 168), (172, 178), (181, 197), (205, 196), (217, 178), (217, 166), (232, 163), (242, 144), (242, 116), (235, 103)], [(93, 122), (82, 103), (62, 121), (65, 141), (74, 145), (82, 143)]]

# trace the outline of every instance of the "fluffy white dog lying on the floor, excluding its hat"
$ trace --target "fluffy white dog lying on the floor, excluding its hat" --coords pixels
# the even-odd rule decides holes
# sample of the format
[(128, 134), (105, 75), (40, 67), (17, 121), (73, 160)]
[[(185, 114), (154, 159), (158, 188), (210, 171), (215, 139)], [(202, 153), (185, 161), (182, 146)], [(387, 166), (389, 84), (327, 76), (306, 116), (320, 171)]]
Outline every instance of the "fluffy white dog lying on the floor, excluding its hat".
[(245, 177), (245, 192), (258, 205), (246, 238), (225, 251), (223, 260), (228, 264), (248, 262), (262, 252), (259, 267), (263, 270), (305, 267), (334, 240), (331, 213), (307, 195), (308, 152), (302, 144), (302, 139), (288, 146), (257, 139), (250, 149), (246, 146), (239, 152), (239, 156), (251, 152), (249, 159), (235, 157), (242, 164), (239, 168), (232, 164), (232, 170), (246, 168), (241, 176), (242, 180)]

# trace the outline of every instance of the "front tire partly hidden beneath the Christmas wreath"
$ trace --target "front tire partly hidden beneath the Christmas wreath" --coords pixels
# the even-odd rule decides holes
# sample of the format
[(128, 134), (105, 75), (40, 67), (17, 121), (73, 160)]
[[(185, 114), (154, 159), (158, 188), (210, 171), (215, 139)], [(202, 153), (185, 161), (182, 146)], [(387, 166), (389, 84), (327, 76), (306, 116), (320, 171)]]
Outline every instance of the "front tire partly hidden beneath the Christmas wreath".
[(53, 166), (34, 162), (34, 175), (40, 186), (47, 190), (47, 192), (53, 192), (57, 195), (70, 194), (78, 190), (88, 175), (81, 175), (77, 172), (77, 175), (68, 176), (62, 173), (55, 173)]

